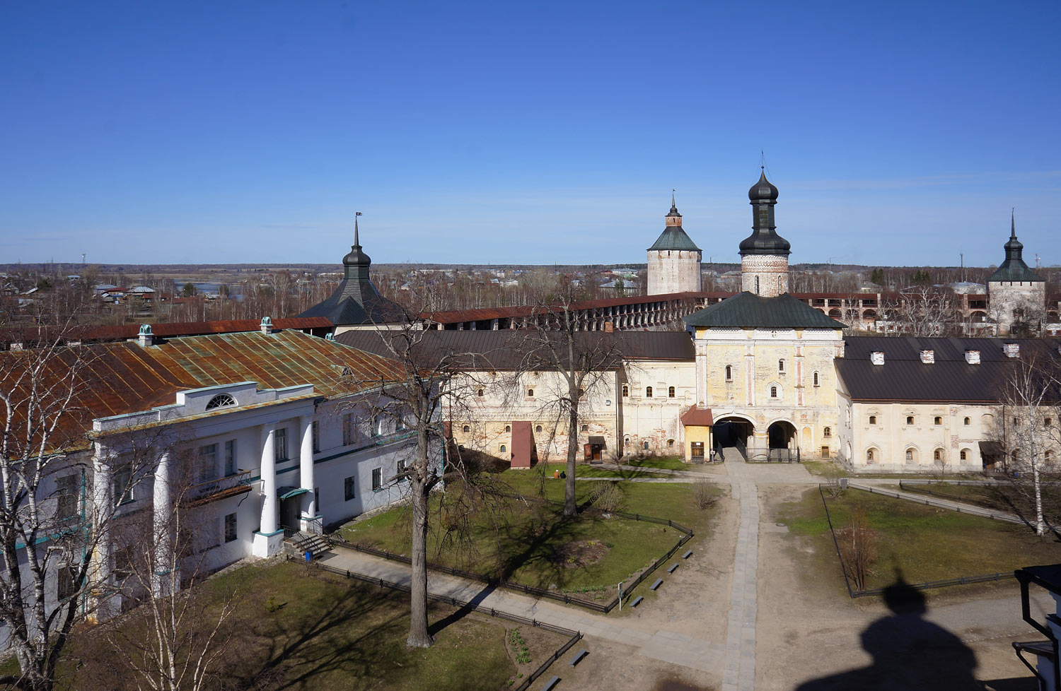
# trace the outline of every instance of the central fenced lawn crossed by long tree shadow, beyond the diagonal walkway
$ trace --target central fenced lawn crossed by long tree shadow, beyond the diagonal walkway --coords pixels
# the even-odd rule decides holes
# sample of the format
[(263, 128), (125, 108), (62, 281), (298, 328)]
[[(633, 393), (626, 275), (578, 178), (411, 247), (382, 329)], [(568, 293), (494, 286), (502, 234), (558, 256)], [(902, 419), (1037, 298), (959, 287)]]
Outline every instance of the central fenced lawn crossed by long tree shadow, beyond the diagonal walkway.
[[(491, 510), (471, 516), (460, 539), (447, 534), (445, 510), (439, 497), (432, 500), (428, 557), (445, 566), (502, 575), (512, 582), (608, 600), (619, 581), (636, 574), (678, 541), (674, 528), (620, 518), (601, 512), (584, 512), (566, 519), (561, 509), (536, 501), (542, 476), (537, 469), (507, 471), (501, 480), (529, 497), (493, 500)], [(578, 482), (579, 502), (607, 482)], [(711, 511), (693, 504), (691, 484), (616, 482), (621, 509), (671, 518), (701, 534), (707, 532)], [(709, 488), (715, 495), (720, 488)], [(562, 499), (563, 480), (544, 478), (545, 496)], [(410, 553), (410, 512), (399, 507), (371, 518), (348, 524), (343, 536), (351, 543)]]

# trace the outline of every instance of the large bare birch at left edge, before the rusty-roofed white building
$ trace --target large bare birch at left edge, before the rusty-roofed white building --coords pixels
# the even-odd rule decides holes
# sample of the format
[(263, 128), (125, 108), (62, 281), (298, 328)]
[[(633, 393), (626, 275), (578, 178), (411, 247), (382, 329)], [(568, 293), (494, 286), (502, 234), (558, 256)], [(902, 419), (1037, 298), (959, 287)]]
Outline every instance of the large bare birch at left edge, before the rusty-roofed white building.
[(34, 348), (0, 353), (0, 618), (20, 670), (0, 680), (35, 691), (53, 687), (74, 623), (106, 603), (110, 522), (150, 469), (128, 440), (88, 439), (100, 352), (68, 339), (27, 334)]

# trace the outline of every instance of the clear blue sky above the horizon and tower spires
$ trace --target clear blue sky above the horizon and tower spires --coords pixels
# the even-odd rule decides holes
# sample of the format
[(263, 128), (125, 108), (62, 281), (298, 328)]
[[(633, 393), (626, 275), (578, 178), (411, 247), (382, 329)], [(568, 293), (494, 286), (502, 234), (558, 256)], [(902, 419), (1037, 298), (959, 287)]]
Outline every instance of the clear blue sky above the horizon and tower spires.
[(1061, 264), (1061, 3), (0, 8), (0, 262)]

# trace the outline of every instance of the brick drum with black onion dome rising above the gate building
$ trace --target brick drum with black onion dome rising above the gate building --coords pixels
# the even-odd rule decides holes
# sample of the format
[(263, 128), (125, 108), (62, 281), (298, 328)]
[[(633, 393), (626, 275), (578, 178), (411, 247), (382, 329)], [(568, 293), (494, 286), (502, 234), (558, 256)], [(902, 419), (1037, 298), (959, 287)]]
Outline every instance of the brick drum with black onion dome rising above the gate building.
[(751, 203), (751, 235), (741, 242), (741, 289), (764, 298), (788, 293), (788, 255), (792, 245), (778, 235), (773, 206), (778, 189), (766, 179), (763, 167), (759, 182), (748, 190)]

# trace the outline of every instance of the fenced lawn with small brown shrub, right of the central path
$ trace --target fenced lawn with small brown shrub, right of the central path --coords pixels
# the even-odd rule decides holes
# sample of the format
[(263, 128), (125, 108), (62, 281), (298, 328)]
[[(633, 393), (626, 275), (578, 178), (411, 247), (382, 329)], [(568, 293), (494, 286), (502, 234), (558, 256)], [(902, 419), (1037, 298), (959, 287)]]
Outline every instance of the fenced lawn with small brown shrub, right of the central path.
[[(832, 498), (827, 493), (835, 528), (851, 520), (857, 504), (875, 537), (876, 559), (870, 564), (867, 587), (883, 587), (901, 571), (908, 583), (923, 583), (961, 575), (1003, 573), (1029, 564), (1061, 561), (1061, 542), (1040, 538), (1027, 527), (991, 520), (944, 509), (925, 507), (859, 490)], [(814, 553), (839, 575), (836, 550), (817, 489), (788, 504), (781, 520), (798, 535), (814, 541)]]

